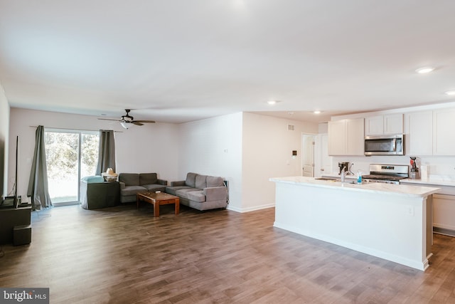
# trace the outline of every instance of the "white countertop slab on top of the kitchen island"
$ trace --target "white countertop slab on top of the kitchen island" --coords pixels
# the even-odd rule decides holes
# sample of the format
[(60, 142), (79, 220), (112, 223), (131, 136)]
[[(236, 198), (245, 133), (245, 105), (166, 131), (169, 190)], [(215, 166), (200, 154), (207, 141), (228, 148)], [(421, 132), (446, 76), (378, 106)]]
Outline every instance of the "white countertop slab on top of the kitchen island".
[(353, 184), (352, 179), (346, 179), (346, 182), (337, 182), (336, 180), (323, 180), (315, 177), (272, 177), (269, 179), (271, 182), (282, 182), (286, 184), (306, 184), (314, 187), (326, 187), (338, 189), (346, 189), (346, 191), (355, 192), (373, 192), (373, 193), (387, 193), (396, 194), (400, 196), (419, 196), (425, 197), (434, 194), (440, 190), (437, 187), (423, 187), (417, 185), (405, 184), (385, 184), (385, 183), (365, 183)]

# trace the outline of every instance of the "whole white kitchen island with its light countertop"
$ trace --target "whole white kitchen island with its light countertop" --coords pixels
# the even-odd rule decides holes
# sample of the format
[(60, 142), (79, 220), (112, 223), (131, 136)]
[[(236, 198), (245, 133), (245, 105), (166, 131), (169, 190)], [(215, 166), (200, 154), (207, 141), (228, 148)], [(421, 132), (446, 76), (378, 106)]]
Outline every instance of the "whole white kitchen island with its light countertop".
[(439, 188), (277, 177), (274, 226), (424, 271)]

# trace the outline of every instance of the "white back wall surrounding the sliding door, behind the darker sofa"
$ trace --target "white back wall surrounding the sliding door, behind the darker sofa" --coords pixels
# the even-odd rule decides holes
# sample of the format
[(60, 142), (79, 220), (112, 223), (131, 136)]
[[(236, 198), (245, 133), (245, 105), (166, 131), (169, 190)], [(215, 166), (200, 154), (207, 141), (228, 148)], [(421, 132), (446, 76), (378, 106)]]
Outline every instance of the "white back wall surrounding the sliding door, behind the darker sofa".
[[(11, 108), (9, 130), (9, 180), (14, 183), (16, 135), (19, 137), (18, 194), (26, 197), (31, 161), (35, 147), (36, 126), (73, 130), (114, 130), (116, 172), (156, 172), (162, 179), (177, 178), (178, 127), (173, 124), (146, 124), (124, 130), (119, 123), (97, 120), (87, 115), (72, 115)], [(32, 126), (32, 127), (31, 127)]]

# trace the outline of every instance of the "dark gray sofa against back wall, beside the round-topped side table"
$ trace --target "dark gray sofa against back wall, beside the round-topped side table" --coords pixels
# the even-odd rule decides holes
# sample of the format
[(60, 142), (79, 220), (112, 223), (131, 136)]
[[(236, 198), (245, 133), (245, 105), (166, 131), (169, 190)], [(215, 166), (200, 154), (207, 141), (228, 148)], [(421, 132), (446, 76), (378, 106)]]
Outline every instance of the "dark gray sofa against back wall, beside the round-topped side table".
[(136, 201), (139, 192), (164, 192), (168, 181), (159, 179), (156, 173), (120, 173), (120, 202)]

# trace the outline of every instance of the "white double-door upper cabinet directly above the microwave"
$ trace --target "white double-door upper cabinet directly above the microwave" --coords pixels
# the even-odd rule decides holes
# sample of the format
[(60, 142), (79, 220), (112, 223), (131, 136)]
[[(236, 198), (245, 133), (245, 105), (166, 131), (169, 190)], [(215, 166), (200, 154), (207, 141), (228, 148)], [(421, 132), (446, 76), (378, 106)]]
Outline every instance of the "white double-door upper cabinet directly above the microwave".
[(387, 114), (365, 118), (365, 135), (387, 135), (403, 133), (403, 115)]

